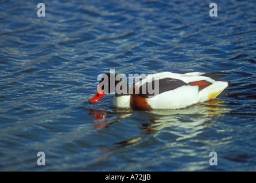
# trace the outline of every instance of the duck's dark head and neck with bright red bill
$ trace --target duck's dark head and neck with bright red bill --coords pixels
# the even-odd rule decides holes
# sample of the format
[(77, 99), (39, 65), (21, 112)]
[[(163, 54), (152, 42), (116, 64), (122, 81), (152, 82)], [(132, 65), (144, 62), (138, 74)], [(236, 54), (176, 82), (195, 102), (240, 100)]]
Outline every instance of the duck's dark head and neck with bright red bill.
[(89, 103), (96, 103), (108, 93), (127, 94), (127, 80), (124, 74), (105, 73), (98, 76), (97, 93)]

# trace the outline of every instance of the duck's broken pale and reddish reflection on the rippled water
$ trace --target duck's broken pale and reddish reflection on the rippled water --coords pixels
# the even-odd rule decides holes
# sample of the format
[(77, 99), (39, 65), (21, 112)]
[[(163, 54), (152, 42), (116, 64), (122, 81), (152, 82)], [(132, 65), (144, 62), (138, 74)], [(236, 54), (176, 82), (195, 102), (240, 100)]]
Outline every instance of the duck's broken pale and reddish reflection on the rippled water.
[(162, 133), (167, 134), (166, 137), (168, 137), (168, 141), (170, 142), (193, 138), (203, 133), (204, 128), (213, 125), (212, 123), (207, 123), (207, 121), (211, 121), (215, 117), (220, 117), (228, 111), (229, 109), (223, 105), (223, 101), (211, 100), (204, 104), (197, 104), (179, 110), (152, 110), (146, 112), (129, 112), (126, 110), (125, 112), (116, 113), (104, 113), (100, 110), (94, 110), (94, 115), (97, 113), (95, 116), (99, 117), (103, 113), (104, 115), (108, 115), (107, 113), (109, 113), (110, 118), (104, 116), (96, 125), (100, 129), (110, 127), (111, 124), (122, 121), (125, 117), (145, 119), (143, 120), (145, 122), (139, 123), (141, 133), (134, 134), (134, 137), (128, 140), (116, 142), (112, 148), (118, 148), (141, 144), (149, 136), (152, 138), (161, 138)]

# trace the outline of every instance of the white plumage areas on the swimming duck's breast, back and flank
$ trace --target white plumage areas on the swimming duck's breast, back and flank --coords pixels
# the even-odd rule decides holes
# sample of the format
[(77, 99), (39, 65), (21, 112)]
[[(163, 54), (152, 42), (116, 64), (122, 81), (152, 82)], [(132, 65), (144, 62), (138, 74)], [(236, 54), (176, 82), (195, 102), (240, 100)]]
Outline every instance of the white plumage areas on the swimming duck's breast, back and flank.
[[(199, 91), (199, 86), (183, 85), (176, 89), (169, 90), (158, 94), (152, 98), (146, 98), (145, 100), (151, 106), (152, 109), (180, 109), (187, 106), (196, 104), (198, 102), (204, 102), (216, 98), (227, 86), (227, 82), (215, 81), (210, 77), (201, 76), (204, 73), (185, 73), (176, 74), (171, 72), (163, 72), (149, 75), (142, 79), (141, 85), (147, 81), (151, 81), (152, 77), (163, 79), (173, 78), (180, 79), (185, 83), (196, 81), (211, 82), (212, 85), (205, 87)], [(140, 83), (136, 82), (135, 87), (139, 87)], [(113, 105), (117, 108), (130, 108), (130, 96), (115, 97)]]

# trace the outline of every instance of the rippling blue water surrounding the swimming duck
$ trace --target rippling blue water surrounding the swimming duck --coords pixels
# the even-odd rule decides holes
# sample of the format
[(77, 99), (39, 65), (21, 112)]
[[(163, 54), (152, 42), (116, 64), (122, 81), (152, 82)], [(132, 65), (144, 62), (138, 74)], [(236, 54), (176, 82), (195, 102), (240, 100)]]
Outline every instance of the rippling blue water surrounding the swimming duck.
[[(255, 1), (1, 1), (1, 171), (255, 171)], [(97, 104), (97, 76), (228, 73), (186, 109)], [(45, 153), (45, 166), (37, 153)], [(209, 164), (210, 152), (218, 165)]]

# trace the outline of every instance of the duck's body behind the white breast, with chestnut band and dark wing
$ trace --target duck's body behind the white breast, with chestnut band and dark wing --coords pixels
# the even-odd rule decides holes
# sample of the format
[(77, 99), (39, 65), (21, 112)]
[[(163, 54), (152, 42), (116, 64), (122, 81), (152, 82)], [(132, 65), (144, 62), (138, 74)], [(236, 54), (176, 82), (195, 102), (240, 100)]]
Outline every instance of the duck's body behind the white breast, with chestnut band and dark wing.
[[(216, 98), (228, 85), (227, 82), (215, 81), (203, 74), (163, 72), (148, 75), (134, 84), (131, 108), (141, 110), (185, 108), (197, 102)], [(148, 89), (143, 93), (143, 86), (149, 86), (150, 82), (154, 83), (155, 93), (149, 93)]]

